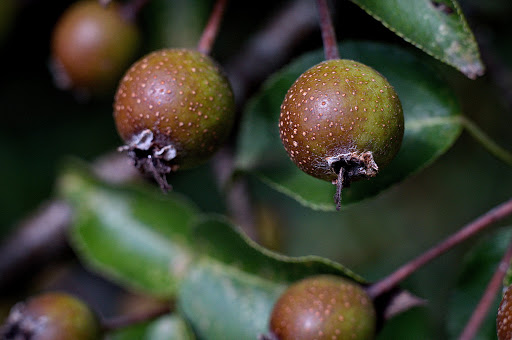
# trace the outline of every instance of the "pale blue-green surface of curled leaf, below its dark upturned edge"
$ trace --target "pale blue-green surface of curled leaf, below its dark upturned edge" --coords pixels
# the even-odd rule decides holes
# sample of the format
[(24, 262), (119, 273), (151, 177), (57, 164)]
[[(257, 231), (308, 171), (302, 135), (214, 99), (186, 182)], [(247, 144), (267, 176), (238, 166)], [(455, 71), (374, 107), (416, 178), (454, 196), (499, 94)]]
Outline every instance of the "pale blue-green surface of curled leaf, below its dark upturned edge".
[(257, 339), (267, 332), (282, 284), (216, 261), (202, 261), (179, 292), (179, 308), (199, 339)]

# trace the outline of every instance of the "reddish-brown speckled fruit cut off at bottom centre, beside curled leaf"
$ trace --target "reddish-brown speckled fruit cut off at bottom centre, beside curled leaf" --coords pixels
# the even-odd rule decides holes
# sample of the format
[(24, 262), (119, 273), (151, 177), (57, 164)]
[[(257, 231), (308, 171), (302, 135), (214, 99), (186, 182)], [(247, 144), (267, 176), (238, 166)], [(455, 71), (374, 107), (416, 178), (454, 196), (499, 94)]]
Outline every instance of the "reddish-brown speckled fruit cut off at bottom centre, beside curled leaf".
[(348, 279), (319, 275), (292, 284), (274, 305), (271, 338), (370, 340), (376, 316), (371, 299)]

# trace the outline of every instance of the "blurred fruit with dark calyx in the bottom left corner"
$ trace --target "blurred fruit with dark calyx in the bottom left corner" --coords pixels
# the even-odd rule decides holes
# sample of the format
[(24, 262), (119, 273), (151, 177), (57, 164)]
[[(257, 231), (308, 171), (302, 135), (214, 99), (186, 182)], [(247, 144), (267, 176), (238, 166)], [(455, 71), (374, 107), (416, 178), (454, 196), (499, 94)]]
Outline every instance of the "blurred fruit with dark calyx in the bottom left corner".
[(100, 323), (89, 307), (59, 292), (44, 293), (16, 304), (0, 333), (2, 339), (97, 340)]

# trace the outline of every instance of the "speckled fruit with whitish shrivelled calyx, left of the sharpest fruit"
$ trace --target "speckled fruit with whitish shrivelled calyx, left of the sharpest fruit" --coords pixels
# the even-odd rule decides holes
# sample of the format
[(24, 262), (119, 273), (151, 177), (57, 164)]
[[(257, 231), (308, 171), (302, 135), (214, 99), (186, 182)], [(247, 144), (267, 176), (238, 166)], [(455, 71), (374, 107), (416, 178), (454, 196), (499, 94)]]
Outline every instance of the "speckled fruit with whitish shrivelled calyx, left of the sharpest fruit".
[(166, 175), (209, 159), (234, 122), (227, 78), (207, 55), (188, 49), (155, 51), (121, 80), (114, 103), (117, 130), (135, 165), (163, 190)]

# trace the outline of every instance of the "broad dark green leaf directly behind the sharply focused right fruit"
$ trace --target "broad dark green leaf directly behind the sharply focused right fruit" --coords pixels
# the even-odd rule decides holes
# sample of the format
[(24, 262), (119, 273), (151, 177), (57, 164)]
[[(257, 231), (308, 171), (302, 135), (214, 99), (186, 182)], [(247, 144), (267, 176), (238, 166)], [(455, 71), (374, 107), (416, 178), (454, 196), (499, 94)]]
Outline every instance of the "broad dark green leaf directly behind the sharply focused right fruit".
[[(426, 167), (459, 136), (462, 125), (455, 95), (423, 60), (407, 50), (367, 42), (340, 45), (343, 58), (381, 72), (400, 96), (405, 117), (402, 147), (373, 179), (343, 190), (342, 206), (376, 195)], [(278, 191), (319, 210), (334, 210), (334, 186), (306, 175), (288, 158), (277, 122), (281, 102), (295, 79), (323, 60), (323, 51), (304, 55), (282, 69), (251, 100), (238, 140), (237, 168), (255, 174)]]

